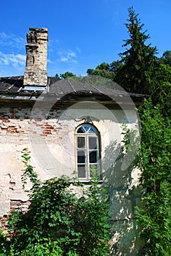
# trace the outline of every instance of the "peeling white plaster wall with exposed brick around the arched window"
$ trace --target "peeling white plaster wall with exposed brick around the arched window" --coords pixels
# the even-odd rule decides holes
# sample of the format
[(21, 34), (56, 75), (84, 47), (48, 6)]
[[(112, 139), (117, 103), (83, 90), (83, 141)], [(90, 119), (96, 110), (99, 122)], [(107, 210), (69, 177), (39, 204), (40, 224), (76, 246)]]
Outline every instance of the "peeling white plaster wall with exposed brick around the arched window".
[[(42, 180), (62, 174), (72, 176), (75, 129), (83, 124), (84, 116), (96, 116), (92, 121), (101, 138), (104, 182), (110, 188), (112, 203), (113, 255), (140, 255), (141, 241), (137, 240), (140, 230), (134, 223), (134, 206), (139, 204), (141, 195), (138, 188), (140, 173), (138, 170), (121, 170), (122, 159), (118, 154), (123, 138), (121, 124), (128, 121), (122, 110), (110, 110), (105, 115), (102, 110), (94, 111), (75, 106), (61, 110), (58, 106), (51, 109), (48, 116), (46, 110), (37, 109), (37, 114), (31, 117), (31, 107), (0, 109), (0, 216), (16, 208), (23, 211), (28, 208), (28, 197), (20, 181), (24, 167), (23, 149), (31, 151), (31, 165)], [(127, 115), (134, 127), (137, 116), (129, 110)]]

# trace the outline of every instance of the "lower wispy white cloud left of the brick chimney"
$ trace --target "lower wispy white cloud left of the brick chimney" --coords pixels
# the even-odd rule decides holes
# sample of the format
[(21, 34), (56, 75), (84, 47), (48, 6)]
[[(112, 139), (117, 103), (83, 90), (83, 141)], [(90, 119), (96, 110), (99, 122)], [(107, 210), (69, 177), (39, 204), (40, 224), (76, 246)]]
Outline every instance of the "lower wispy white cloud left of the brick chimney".
[(23, 54), (5, 54), (0, 52), (0, 64), (12, 65), (14, 67), (25, 66), (26, 56)]

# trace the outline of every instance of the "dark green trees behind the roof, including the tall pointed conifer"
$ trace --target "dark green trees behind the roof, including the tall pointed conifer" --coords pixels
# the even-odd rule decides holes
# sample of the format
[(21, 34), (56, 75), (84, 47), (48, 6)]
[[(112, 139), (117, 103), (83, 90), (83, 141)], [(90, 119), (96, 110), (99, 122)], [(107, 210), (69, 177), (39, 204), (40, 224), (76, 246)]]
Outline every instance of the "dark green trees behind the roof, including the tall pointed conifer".
[[(171, 82), (164, 69), (170, 68), (171, 51), (166, 50), (158, 59), (156, 47), (151, 47), (151, 44), (147, 43), (150, 36), (146, 34), (146, 30), (142, 31), (144, 24), (140, 22), (139, 14), (134, 12), (133, 7), (129, 7), (128, 12), (129, 19), (125, 25), (129, 39), (123, 40), (123, 47), (126, 50), (119, 53), (120, 60), (110, 64), (102, 62), (95, 69), (87, 69), (87, 77), (77, 77), (72, 72), (65, 72), (60, 75), (56, 74), (56, 78), (73, 78), (76, 82), (88, 81), (89, 76), (107, 78), (115, 81), (128, 92), (151, 95), (153, 103), (164, 104), (163, 113), (167, 112), (170, 110), (169, 101), (165, 101), (164, 98), (167, 95), (167, 89), (170, 90)], [(93, 84), (108, 87), (107, 82), (90, 81)], [(170, 94), (167, 99), (170, 99)]]

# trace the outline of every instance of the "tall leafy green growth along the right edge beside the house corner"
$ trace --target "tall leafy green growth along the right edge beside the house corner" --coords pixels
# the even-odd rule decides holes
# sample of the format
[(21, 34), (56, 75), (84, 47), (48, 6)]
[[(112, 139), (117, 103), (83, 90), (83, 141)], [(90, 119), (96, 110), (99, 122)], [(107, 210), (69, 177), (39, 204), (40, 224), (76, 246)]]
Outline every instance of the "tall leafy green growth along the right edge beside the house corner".
[(142, 170), (140, 184), (142, 207), (137, 208), (137, 222), (142, 225), (148, 255), (171, 255), (171, 173), (170, 119), (145, 100), (140, 109), (142, 141), (137, 166)]

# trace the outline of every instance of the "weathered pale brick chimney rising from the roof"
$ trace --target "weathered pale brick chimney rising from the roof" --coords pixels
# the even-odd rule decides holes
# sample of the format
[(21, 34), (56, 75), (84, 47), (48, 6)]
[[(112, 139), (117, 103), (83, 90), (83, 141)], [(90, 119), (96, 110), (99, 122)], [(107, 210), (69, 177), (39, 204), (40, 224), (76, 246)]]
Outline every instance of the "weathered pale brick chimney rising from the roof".
[[(26, 44), (26, 71), (24, 89), (47, 86), (47, 41), (48, 30), (29, 28)], [(34, 87), (35, 86), (35, 87)]]

